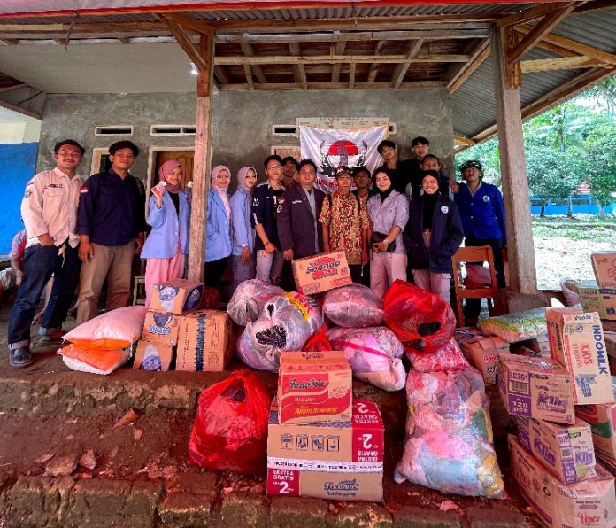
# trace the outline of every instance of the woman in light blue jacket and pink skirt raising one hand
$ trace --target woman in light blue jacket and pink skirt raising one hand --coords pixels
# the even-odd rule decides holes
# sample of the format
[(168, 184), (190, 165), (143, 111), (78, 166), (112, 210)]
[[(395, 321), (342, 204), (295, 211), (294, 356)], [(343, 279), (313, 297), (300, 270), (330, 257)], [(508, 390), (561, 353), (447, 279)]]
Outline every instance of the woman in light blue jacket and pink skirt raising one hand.
[(181, 188), (182, 168), (169, 159), (158, 169), (158, 184), (152, 187), (150, 212), (146, 221), (152, 227), (143, 245), (145, 267), (145, 306), (150, 307), (154, 284), (184, 276), (185, 255), (189, 252), (189, 193)]

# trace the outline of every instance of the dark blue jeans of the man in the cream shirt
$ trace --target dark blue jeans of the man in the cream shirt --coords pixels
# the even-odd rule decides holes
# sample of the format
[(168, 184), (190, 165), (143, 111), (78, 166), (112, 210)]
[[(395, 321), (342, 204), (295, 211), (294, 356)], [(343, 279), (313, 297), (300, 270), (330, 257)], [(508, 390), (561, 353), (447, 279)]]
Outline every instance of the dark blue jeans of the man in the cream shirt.
[[(64, 257), (58, 252), (64, 248)], [(65, 242), (56, 245), (31, 245), (24, 253), (24, 278), (17, 292), (9, 321), (9, 347), (30, 343), (30, 325), (35, 317), (36, 306), (45, 284), (54, 276), (50, 302), (42, 316), (41, 326), (60, 329), (73, 302), (81, 260), (77, 248)]]

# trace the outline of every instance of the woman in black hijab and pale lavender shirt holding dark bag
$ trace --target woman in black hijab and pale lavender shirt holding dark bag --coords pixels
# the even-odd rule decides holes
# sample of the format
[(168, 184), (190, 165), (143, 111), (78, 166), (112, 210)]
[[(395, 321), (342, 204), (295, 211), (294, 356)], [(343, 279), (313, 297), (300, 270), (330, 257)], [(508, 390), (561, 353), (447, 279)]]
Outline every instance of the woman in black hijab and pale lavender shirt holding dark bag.
[(373, 225), (370, 238), (370, 287), (381, 297), (397, 279), (406, 280), (406, 251), (402, 230), (409, 218), (404, 194), (392, 187), (392, 172), (378, 168), (373, 175), (378, 192), (368, 198), (366, 209)]

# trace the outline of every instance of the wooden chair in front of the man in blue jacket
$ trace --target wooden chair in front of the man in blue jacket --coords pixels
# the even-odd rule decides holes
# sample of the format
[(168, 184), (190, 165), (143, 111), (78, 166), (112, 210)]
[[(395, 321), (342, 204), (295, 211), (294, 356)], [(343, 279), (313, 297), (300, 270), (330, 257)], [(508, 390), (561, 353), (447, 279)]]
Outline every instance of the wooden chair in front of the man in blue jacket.
[[(459, 264), (462, 262), (488, 262), (489, 276), (491, 285), (482, 288), (466, 288), (461, 281)], [(494, 297), (497, 294), (497, 272), (494, 269), (494, 253), (489, 245), (477, 245), (472, 247), (461, 247), (451, 258), (453, 267), (453, 283), (456, 291), (456, 312), (458, 314), (458, 324), (464, 326), (464, 314), (462, 312), (462, 299), (488, 299), (489, 314), (494, 311)]]

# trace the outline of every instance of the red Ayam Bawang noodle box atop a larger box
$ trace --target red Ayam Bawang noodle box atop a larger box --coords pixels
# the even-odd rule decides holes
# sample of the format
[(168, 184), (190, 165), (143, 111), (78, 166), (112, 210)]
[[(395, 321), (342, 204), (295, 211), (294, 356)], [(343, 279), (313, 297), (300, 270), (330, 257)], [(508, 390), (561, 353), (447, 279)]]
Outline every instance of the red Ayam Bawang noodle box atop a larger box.
[(281, 352), (281, 423), (350, 420), (353, 372), (342, 352)]

